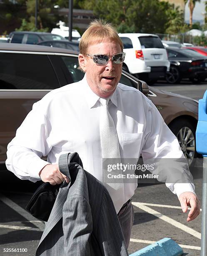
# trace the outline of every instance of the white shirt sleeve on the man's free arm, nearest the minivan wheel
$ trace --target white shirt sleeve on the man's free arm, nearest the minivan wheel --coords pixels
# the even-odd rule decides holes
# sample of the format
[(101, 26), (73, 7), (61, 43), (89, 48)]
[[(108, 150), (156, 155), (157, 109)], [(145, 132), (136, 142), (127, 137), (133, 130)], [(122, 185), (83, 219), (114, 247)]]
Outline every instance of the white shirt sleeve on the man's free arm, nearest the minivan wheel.
[(158, 174), (158, 180), (177, 195), (195, 193), (192, 174), (176, 136), (170, 131), (155, 105), (148, 100), (145, 143), (142, 147), (144, 163), (154, 164), (150, 172)]

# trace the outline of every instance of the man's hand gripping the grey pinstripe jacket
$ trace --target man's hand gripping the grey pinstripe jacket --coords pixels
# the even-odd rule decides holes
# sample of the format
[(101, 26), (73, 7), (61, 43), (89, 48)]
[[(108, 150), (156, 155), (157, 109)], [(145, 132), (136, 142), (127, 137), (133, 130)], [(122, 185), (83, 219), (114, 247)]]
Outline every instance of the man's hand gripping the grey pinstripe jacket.
[(64, 179), (67, 183), (70, 182), (70, 179), (60, 172), (58, 164), (45, 165), (39, 175), (43, 182), (50, 182), (53, 186), (62, 183)]

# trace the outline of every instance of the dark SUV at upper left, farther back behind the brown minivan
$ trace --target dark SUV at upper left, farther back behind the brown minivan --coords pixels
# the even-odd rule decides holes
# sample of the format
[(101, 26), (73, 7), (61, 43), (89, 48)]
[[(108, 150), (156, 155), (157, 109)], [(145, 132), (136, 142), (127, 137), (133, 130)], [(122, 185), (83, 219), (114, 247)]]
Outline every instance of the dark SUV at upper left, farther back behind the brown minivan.
[(15, 44), (38, 44), (46, 40), (64, 40), (63, 36), (46, 32), (13, 31), (9, 34), (8, 42)]

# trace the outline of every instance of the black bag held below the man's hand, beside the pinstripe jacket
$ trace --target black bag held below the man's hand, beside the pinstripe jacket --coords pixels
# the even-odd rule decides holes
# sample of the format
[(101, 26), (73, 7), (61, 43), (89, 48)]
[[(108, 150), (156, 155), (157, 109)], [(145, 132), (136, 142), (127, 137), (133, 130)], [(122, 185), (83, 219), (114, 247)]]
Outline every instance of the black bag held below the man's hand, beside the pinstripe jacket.
[(53, 186), (49, 182), (44, 182), (34, 192), (26, 206), (26, 210), (35, 218), (47, 221), (61, 185), (62, 183)]

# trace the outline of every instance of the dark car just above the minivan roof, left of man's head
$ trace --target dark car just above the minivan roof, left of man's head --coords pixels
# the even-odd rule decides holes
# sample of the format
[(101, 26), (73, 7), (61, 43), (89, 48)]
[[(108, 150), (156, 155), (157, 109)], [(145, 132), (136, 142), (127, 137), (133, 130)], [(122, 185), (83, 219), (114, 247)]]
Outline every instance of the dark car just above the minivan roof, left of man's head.
[(42, 41), (37, 45), (44, 45), (50, 47), (64, 48), (73, 51), (79, 51), (79, 41), (62, 41), (62, 40), (53, 40), (53, 41)]

